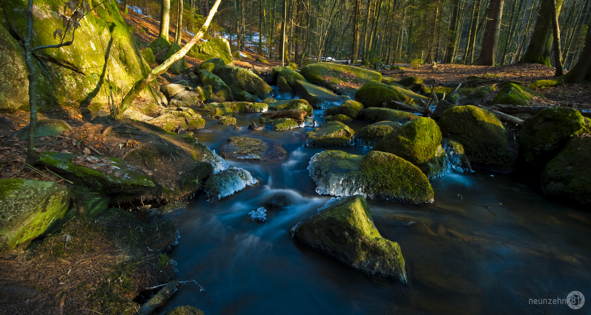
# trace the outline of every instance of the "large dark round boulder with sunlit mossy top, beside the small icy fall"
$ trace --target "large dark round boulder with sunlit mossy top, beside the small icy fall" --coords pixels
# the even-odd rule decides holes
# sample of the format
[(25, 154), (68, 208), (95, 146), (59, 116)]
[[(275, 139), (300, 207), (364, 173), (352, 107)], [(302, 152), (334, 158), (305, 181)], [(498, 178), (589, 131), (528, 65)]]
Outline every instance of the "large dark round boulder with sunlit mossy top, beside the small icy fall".
[(512, 171), (517, 152), (511, 147), (505, 127), (496, 116), (476, 106), (454, 106), (441, 114), (441, 135), (463, 145), (473, 167)]

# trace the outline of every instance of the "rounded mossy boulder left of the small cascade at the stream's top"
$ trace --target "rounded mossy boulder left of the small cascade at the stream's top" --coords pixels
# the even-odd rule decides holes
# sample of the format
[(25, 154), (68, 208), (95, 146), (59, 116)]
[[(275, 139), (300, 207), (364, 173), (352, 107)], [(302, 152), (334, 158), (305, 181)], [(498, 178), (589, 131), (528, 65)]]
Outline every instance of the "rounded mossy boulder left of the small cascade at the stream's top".
[(264, 99), (273, 93), (271, 86), (250, 70), (233, 66), (223, 66), (220, 69), (214, 69), (213, 73), (219, 76), (235, 95), (240, 91), (246, 91), (252, 95), (256, 95), (259, 99)]

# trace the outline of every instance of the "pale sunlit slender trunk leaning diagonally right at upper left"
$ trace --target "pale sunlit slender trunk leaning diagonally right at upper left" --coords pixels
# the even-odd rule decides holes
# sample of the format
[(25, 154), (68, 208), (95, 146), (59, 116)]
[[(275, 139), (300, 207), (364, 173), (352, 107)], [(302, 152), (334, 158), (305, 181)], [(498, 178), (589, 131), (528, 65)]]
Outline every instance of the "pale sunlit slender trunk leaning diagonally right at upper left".
[(123, 112), (125, 112), (129, 105), (131, 105), (131, 102), (133, 102), (134, 99), (137, 98), (139, 92), (144, 90), (148, 86), (148, 84), (150, 84), (150, 82), (156, 79), (156, 77), (160, 76), (160, 74), (166, 72), (166, 70), (168, 70), (168, 68), (170, 68), (170, 66), (172, 66), (173, 63), (183, 58), (184, 55), (186, 55), (189, 52), (191, 47), (193, 47), (193, 45), (196, 44), (197, 41), (199, 41), (203, 37), (203, 35), (207, 31), (207, 28), (209, 27), (209, 24), (212, 22), (213, 15), (216, 14), (217, 7), (219, 7), (220, 2), (222, 2), (222, 0), (216, 0), (216, 2), (212, 6), (211, 11), (209, 11), (209, 15), (207, 15), (207, 20), (205, 20), (203, 26), (199, 28), (200, 31), (197, 32), (193, 36), (193, 38), (191, 38), (191, 40), (189, 40), (189, 43), (185, 44), (185, 46), (183, 46), (181, 50), (177, 51), (173, 54), (173, 56), (170, 56), (170, 58), (161, 63), (160, 66), (152, 69), (152, 71), (149, 72), (144, 78), (138, 80), (138, 82), (135, 82), (134, 86), (131, 88), (131, 90), (129, 90), (129, 92), (121, 101), (121, 104), (119, 104), (119, 113), (117, 114), (117, 118), (121, 118), (123, 116)]

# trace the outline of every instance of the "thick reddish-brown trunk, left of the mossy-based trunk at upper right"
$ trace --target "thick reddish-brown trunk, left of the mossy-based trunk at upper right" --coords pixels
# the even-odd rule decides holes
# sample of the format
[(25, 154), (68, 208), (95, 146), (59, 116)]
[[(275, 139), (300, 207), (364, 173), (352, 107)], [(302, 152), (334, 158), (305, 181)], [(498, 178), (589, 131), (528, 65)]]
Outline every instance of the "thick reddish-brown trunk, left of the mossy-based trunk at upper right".
[(503, 4), (505, 0), (491, 0), (489, 5), (489, 17), (486, 23), (484, 43), (480, 56), (474, 61), (475, 66), (494, 66), (496, 50), (499, 47), (499, 30), (501, 30), (501, 18), (503, 16)]

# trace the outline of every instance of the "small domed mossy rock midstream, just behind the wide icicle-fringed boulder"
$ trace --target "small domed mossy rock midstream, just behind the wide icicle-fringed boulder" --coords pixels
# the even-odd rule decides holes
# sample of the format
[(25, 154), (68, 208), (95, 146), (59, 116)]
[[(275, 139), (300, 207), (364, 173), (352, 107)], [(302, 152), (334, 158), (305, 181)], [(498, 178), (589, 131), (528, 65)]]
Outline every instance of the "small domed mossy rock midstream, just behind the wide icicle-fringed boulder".
[(306, 133), (306, 145), (317, 147), (343, 147), (353, 145), (355, 132), (340, 121), (324, 122)]

